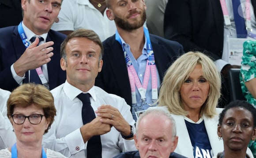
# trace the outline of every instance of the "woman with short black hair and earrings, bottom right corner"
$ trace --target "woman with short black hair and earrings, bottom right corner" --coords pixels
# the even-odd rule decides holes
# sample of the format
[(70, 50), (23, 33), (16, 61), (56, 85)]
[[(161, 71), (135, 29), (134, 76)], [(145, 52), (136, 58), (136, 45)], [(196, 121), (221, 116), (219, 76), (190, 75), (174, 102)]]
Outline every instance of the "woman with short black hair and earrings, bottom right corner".
[(246, 101), (234, 101), (219, 115), (217, 134), (224, 151), (214, 158), (253, 158), (247, 148), (256, 138), (256, 109)]

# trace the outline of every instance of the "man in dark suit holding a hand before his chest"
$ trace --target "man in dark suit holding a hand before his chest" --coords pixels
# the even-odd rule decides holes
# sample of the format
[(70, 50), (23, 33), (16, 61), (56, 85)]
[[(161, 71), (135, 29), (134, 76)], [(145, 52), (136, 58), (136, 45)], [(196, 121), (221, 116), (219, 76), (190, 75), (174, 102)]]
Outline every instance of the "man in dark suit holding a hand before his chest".
[(50, 30), (61, 2), (22, 0), (23, 21), (0, 29), (0, 88), (12, 91), (23, 83), (35, 82), (53, 89), (64, 83), (60, 44), (66, 36)]

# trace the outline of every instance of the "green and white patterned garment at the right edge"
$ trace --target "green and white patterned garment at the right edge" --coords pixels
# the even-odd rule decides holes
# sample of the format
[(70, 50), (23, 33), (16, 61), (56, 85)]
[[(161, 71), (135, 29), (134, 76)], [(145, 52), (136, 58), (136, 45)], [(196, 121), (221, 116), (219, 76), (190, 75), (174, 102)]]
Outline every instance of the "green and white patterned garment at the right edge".
[[(256, 99), (248, 91), (245, 82), (256, 77), (256, 41), (247, 40), (244, 43), (244, 50), (241, 62), (240, 83), (243, 95), (247, 102), (256, 107)], [(250, 141), (248, 147), (251, 149), (254, 158), (256, 158), (256, 141)]]

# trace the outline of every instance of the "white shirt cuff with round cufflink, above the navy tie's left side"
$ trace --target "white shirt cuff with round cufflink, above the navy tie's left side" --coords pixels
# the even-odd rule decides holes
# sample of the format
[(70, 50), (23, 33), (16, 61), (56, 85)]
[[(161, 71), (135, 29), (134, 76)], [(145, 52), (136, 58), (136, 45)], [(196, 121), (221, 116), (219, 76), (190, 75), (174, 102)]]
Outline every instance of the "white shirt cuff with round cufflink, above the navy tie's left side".
[(71, 154), (76, 154), (79, 151), (85, 150), (87, 147), (87, 142), (83, 142), (80, 129), (76, 129), (74, 132), (69, 133), (64, 139), (65, 142), (67, 142)]

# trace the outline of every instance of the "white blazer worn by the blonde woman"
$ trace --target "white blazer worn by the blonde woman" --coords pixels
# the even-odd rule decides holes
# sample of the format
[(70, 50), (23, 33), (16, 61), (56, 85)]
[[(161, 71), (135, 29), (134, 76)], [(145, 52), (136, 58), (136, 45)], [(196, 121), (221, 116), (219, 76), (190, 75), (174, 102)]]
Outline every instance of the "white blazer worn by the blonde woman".
[[(161, 108), (165, 111), (169, 111), (167, 106), (151, 107), (151, 108)], [(222, 110), (223, 109), (221, 108), (216, 108), (217, 114), (213, 118), (208, 118), (205, 115), (203, 115), (204, 125), (206, 128), (214, 155), (224, 150), (223, 141), (219, 140), (217, 135), (218, 118)], [(177, 136), (179, 137), (178, 144), (174, 152), (184, 155), (188, 158), (194, 158), (192, 143), (188, 135), (188, 130), (185, 124), (184, 116), (172, 114), (172, 117), (176, 122)]]

